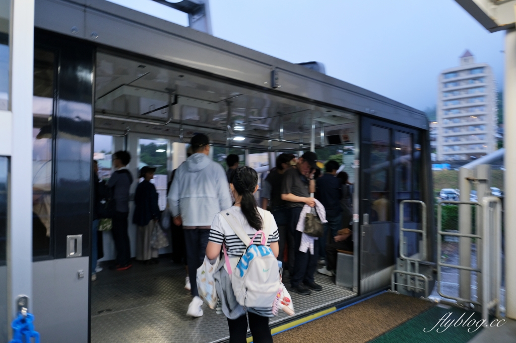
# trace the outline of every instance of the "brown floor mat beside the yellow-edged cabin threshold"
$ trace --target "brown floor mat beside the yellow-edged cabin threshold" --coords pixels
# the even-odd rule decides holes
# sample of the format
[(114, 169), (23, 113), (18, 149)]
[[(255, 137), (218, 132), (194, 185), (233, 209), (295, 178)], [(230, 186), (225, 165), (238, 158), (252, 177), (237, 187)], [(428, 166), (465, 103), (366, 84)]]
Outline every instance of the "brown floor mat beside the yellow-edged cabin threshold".
[(338, 312), (279, 333), (274, 336), (274, 341), (275, 343), (365, 343), (396, 328), (432, 306), (432, 303), (421, 299), (382, 293)]

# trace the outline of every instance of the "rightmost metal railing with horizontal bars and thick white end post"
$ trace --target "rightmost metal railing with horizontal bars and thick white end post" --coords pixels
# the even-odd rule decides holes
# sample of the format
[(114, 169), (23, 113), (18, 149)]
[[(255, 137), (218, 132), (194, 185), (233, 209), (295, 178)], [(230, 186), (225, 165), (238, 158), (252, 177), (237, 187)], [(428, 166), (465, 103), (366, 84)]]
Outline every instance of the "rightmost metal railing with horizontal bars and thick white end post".
[[(478, 233), (456, 233), (442, 231), (442, 205), (475, 205), (481, 209), (481, 225), (478, 225)], [(494, 205), (494, 207), (493, 207)], [(479, 257), (481, 261), (477, 261), (477, 267), (461, 266), (443, 263), (442, 257), (442, 237), (455, 236), (463, 238), (476, 238), (477, 251), (481, 251)], [(501, 242), (502, 242), (502, 202), (497, 197), (483, 197), (482, 202), (476, 201), (440, 201), (437, 210), (437, 292), (443, 298), (453, 299), (460, 303), (471, 303), (481, 306), (482, 319), (488, 320), (489, 310), (495, 307), (496, 316), (499, 316), (499, 289), (501, 285), (502, 267), (501, 267)], [(479, 260), (479, 259), (477, 259)], [(480, 267), (479, 267), (480, 266)], [(494, 268), (490, 268), (494, 267)], [(469, 270), (479, 273), (478, 283), (481, 286), (481, 293), (475, 301), (473, 299), (464, 299), (443, 294), (441, 291), (441, 269), (442, 267), (455, 268), (459, 270)]]

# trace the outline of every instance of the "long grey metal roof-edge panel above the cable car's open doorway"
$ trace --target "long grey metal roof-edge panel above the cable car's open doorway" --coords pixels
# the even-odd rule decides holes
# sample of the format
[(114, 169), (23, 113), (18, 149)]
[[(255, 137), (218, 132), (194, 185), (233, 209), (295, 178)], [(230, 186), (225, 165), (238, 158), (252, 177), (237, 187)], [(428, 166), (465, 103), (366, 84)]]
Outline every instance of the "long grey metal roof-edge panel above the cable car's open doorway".
[[(38, 0), (42, 6), (46, 6), (49, 1), (58, 3), (58, 0)], [(68, 10), (65, 8), (68, 2), (59, 3), (63, 9), (53, 8), (47, 21), (58, 20), (62, 16), (61, 12), (64, 14)], [(271, 92), (303, 97), (418, 128), (428, 128), (426, 116), (421, 111), (300, 65), (104, 0), (91, 0), (84, 8), (85, 37), (88, 41), (195, 68)], [(37, 18), (39, 15), (36, 13)], [(68, 27), (58, 28), (39, 19), (37, 22), (41, 23), (38, 24), (41, 28), (70, 35)], [(273, 90), (271, 72), (276, 68), (281, 87)]]

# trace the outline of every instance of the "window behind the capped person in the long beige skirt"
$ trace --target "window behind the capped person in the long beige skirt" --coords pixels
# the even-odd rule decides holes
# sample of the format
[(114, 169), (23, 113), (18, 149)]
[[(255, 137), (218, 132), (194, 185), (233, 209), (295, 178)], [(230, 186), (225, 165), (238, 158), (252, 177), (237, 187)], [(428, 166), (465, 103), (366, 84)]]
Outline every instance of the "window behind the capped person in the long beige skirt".
[[(167, 148), (168, 142), (162, 140), (138, 140), (139, 159), (138, 170), (143, 166), (156, 168), (154, 179), (151, 180), (158, 192), (159, 210), (164, 211), (167, 207)], [(140, 179), (140, 182), (143, 178)]]

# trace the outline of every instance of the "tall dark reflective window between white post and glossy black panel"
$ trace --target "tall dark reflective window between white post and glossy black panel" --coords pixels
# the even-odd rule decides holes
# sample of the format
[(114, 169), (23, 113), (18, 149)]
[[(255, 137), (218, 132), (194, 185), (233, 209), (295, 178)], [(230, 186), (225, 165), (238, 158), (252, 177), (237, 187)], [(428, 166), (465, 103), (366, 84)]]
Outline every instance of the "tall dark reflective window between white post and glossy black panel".
[(33, 255), (50, 255), (52, 143), (54, 139), (53, 52), (34, 50)]

